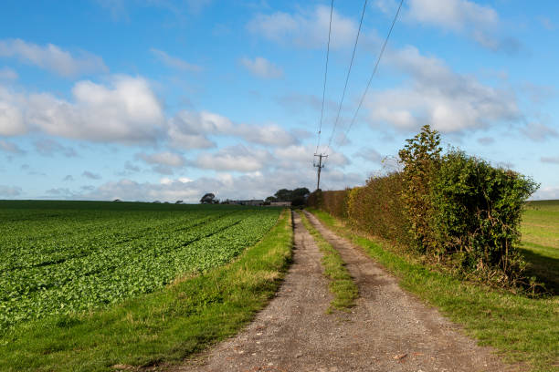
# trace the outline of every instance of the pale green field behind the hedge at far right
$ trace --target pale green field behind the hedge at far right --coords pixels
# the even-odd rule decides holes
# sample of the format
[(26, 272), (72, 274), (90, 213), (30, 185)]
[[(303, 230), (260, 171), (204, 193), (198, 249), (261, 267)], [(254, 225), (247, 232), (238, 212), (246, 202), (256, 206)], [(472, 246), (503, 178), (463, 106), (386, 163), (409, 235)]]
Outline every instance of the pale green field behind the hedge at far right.
[(521, 232), (528, 273), (559, 294), (559, 201), (529, 202)]

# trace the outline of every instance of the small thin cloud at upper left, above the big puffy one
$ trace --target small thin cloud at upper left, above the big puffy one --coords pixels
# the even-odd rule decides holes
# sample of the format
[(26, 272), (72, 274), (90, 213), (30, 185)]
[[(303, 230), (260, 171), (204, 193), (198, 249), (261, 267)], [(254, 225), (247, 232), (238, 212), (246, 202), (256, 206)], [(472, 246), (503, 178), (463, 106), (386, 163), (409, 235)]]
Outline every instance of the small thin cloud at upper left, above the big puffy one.
[(63, 77), (109, 70), (101, 57), (91, 53), (81, 52), (76, 57), (53, 44), (42, 47), (21, 39), (0, 40), (0, 57), (16, 57), (24, 63), (47, 69)]

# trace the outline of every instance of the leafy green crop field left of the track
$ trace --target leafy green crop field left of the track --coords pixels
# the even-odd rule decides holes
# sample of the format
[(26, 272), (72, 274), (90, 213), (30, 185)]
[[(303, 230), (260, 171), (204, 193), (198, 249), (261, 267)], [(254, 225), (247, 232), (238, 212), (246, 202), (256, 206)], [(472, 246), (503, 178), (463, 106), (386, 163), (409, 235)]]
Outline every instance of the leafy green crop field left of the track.
[(0, 330), (206, 272), (257, 243), (279, 215), (219, 205), (0, 202)]

